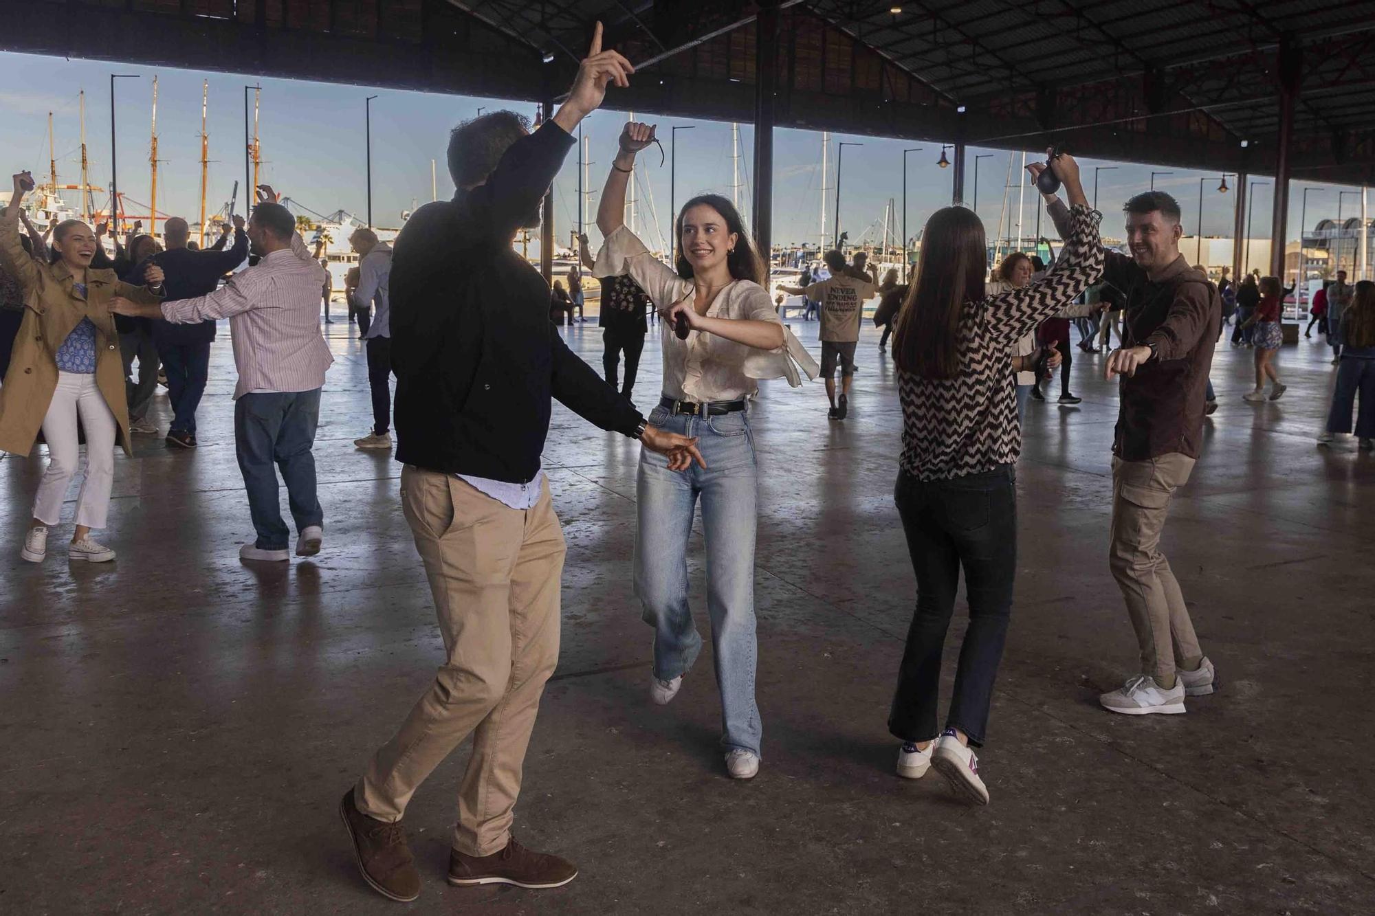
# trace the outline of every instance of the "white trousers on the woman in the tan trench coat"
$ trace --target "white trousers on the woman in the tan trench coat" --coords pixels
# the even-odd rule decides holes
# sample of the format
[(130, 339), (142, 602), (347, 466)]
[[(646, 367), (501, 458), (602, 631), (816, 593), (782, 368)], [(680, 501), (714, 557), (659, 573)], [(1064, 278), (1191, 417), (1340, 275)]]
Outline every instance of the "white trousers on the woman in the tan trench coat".
[(104, 403), (95, 384), (95, 374), (58, 373), (58, 388), (43, 418), (43, 437), (48, 440), (48, 469), (38, 483), (33, 501), (33, 517), (45, 525), (62, 520), (62, 503), (67, 498), (67, 484), (77, 472), (77, 414), (87, 436), (87, 473), (77, 495), (76, 524), (103, 528), (110, 509), (110, 487), (114, 484), (116, 422), (110, 406)]

